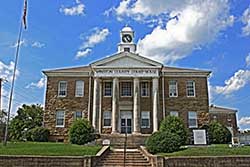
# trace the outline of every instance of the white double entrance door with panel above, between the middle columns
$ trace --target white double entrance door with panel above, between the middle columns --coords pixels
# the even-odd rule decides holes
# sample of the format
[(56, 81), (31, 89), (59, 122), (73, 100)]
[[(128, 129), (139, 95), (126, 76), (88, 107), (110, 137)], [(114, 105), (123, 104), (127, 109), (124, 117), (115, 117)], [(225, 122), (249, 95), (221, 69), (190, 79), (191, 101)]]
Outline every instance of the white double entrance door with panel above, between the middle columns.
[(121, 133), (132, 133), (132, 112), (121, 111)]

